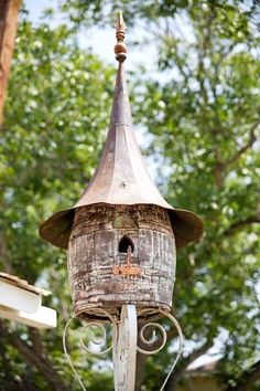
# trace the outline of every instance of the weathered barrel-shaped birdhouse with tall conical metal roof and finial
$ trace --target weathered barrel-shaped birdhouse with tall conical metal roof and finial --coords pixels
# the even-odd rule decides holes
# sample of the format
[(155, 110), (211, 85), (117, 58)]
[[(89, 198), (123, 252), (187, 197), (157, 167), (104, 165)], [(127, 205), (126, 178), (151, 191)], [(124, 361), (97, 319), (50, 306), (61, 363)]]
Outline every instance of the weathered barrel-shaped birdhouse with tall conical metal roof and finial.
[(202, 220), (176, 209), (149, 177), (131, 119), (123, 73), (124, 23), (117, 25), (119, 62), (110, 126), (102, 157), (78, 202), (46, 220), (40, 234), (66, 249), (74, 314), (117, 316), (122, 305), (137, 311), (171, 310), (176, 249), (197, 241)]

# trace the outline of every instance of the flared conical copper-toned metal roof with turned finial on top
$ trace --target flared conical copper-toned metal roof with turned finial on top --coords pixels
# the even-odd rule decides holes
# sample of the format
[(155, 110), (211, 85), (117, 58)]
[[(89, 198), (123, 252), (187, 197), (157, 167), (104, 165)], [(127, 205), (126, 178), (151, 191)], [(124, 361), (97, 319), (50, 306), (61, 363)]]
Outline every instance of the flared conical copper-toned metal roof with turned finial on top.
[(115, 46), (119, 61), (117, 82), (107, 141), (96, 172), (78, 202), (55, 213), (40, 228), (40, 235), (52, 244), (67, 249), (75, 209), (105, 204), (154, 204), (169, 210), (176, 246), (197, 241), (203, 234), (202, 220), (187, 210), (175, 209), (160, 194), (141, 156), (131, 119), (131, 109), (123, 72), (127, 49), (124, 23), (120, 15)]

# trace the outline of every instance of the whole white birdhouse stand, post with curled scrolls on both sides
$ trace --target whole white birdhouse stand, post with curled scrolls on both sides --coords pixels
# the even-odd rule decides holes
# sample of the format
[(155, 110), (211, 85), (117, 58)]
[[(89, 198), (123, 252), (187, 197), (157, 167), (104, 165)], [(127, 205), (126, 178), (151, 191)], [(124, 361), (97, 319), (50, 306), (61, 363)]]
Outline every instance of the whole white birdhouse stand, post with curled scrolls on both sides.
[[(79, 345), (83, 350), (85, 350), (88, 353), (91, 355), (105, 355), (109, 352), (112, 349), (112, 356), (113, 356), (113, 372), (115, 372), (115, 390), (116, 391), (133, 391), (134, 390), (134, 383), (136, 383), (136, 359), (137, 359), (137, 352), (143, 353), (143, 355), (155, 355), (160, 350), (162, 350), (165, 347), (165, 344), (167, 341), (167, 331), (164, 328), (163, 325), (159, 324), (158, 321), (150, 321), (148, 320), (144, 325), (141, 326), (139, 330), (139, 337), (140, 341), (142, 342), (143, 346), (152, 347), (155, 341), (158, 341), (156, 337), (156, 330), (161, 334), (161, 342), (160, 346), (156, 346), (155, 349), (153, 350), (145, 350), (143, 347), (138, 346), (138, 318), (142, 317), (142, 319), (145, 319), (145, 317), (149, 317), (151, 314), (154, 315), (154, 310), (151, 311), (151, 309), (142, 309), (141, 311), (138, 313), (137, 315), (137, 309), (134, 305), (123, 305), (121, 309), (121, 316), (120, 319), (115, 320), (115, 318), (108, 314), (104, 309), (95, 309), (95, 314), (106, 317), (111, 325), (112, 328), (112, 340), (111, 345), (109, 347), (106, 347), (102, 349), (104, 345), (107, 345), (107, 331), (106, 328), (104, 327), (104, 321), (89, 321), (86, 323), (80, 331), (79, 331)], [(176, 328), (177, 335), (178, 335), (178, 349), (176, 357), (174, 359), (174, 362), (171, 366), (171, 369), (160, 389), (160, 391), (163, 391), (171, 373), (173, 372), (177, 360), (180, 359), (180, 356), (182, 353), (182, 347), (183, 347), (183, 334), (182, 329), (177, 323), (177, 320), (167, 311), (163, 309), (158, 309), (156, 315), (163, 315), (166, 317), (173, 326)], [(83, 391), (86, 391), (85, 385), (83, 384), (83, 381), (77, 373), (72, 358), (68, 353), (67, 349), (67, 330), (71, 324), (75, 317), (72, 317), (68, 323), (65, 326), (64, 329), (64, 335), (63, 335), (63, 348), (65, 356), (67, 358), (67, 361), (78, 380)], [(147, 338), (145, 337), (145, 331), (148, 329), (153, 328), (152, 337)], [(97, 330), (99, 331), (97, 335)], [(86, 345), (84, 342), (85, 334), (87, 334), (88, 337), (88, 344)], [(151, 334), (150, 334), (151, 335)], [(94, 347), (94, 348), (93, 348)]]

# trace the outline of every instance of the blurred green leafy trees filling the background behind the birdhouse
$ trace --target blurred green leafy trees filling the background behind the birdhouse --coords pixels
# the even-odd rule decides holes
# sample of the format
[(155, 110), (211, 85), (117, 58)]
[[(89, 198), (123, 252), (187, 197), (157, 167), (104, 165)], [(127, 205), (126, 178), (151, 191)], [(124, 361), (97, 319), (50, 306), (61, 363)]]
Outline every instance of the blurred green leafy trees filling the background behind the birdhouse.
[[(131, 76), (133, 118), (149, 135), (158, 184), (205, 221), (204, 240), (177, 257), (174, 313), (185, 351), (166, 390), (216, 340), (226, 390), (259, 389), (259, 7), (235, 0), (64, 1), (67, 23), (55, 29), (21, 18), (0, 136), (0, 258), (2, 270), (53, 292), (59, 320), (44, 334), (1, 321), (0, 388), (77, 390), (62, 353), (71, 313), (65, 253), (41, 241), (37, 228), (78, 199), (100, 156), (115, 68), (80, 49), (76, 34), (111, 23), (118, 7), (128, 25), (149, 28), (134, 45), (151, 40), (158, 49), (160, 77)], [(149, 360), (137, 389), (159, 389), (170, 352)], [(74, 355), (88, 390), (112, 390), (106, 361)]]

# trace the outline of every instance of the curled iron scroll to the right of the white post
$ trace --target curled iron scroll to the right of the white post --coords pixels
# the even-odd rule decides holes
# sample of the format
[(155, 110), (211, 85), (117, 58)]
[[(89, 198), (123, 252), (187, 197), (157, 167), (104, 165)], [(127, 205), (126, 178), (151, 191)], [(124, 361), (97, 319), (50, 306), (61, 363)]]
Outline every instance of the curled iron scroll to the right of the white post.
[[(176, 353), (176, 357), (175, 357), (175, 360), (173, 361), (173, 364), (166, 376), (166, 378), (164, 379), (164, 382), (160, 389), (160, 391), (163, 391), (164, 387), (166, 385), (166, 382), (170, 378), (170, 376), (172, 374), (181, 355), (182, 355), (182, 350), (183, 350), (183, 332), (182, 332), (182, 329), (181, 329), (181, 326), (178, 325), (177, 320), (174, 318), (174, 316), (170, 313), (166, 313), (165, 310), (163, 309), (158, 309), (158, 311), (162, 315), (164, 315), (166, 318), (169, 318), (172, 324), (175, 326), (176, 330), (177, 330), (177, 335), (178, 335), (178, 349), (177, 349), (177, 353)], [(139, 313), (139, 316), (143, 316), (145, 314), (150, 314), (150, 309), (143, 309), (141, 313)], [(167, 340), (167, 334), (166, 334), (166, 330), (165, 328), (158, 324), (158, 323), (154, 323), (154, 321), (150, 321), (150, 323), (147, 323), (140, 330), (140, 339), (143, 344), (145, 345), (152, 345), (155, 340), (155, 335), (153, 332), (153, 337), (152, 339), (148, 340), (145, 337), (144, 337), (144, 330), (148, 328), (148, 327), (154, 327), (156, 329), (159, 329), (162, 334), (162, 344), (160, 345), (159, 348), (154, 349), (154, 350), (144, 350), (142, 348), (140, 348), (139, 346), (137, 347), (137, 350), (140, 352), (140, 353), (143, 353), (143, 355), (155, 355), (158, 353), (160, 350), (162, 350), (166, 344), (166, 340)]]

